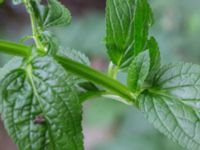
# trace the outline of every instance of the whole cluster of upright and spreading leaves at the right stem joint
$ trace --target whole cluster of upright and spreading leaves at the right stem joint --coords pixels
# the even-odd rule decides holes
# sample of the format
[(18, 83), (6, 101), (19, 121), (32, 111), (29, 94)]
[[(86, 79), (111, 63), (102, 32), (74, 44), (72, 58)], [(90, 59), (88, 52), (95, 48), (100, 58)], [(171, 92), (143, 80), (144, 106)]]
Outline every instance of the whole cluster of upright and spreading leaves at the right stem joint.
[(146, 0), (108, 0), (106, 11), (108, 54), (119, 68), (129, 66), (127, 84), (139, 93), (138, 108), (170, 139), (199, 150), (200, 66), (160, 67), (158, 46), (148, 37), (153, 15)]

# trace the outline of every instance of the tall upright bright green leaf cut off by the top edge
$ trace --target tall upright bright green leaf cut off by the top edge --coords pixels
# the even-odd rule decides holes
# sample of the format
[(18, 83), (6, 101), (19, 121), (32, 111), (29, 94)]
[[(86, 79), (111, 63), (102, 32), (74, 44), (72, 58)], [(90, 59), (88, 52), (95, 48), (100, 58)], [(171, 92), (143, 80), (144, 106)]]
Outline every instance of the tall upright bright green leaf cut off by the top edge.
[(115, 65), (128, 66), (145, 49), (152, 23), (146, 0), (107, 0), (106, 46)]

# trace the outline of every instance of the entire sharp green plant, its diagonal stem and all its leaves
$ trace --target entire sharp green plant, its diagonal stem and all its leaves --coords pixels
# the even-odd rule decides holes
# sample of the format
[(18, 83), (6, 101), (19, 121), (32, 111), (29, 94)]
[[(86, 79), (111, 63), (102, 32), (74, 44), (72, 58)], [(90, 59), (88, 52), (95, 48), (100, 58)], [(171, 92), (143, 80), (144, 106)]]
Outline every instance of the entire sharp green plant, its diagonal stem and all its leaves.
[[(161, 67), (158, 44), (149, 38), (147, 0), (107, 0), (111, 76), (90, 68), (84, 54), (60, 46), (50, 28), (67, 26), (71, 15), (59, 1), (13, 2), (25, 4), (35, 41), (31, 47), (0, 41), (0, 51), (24, 57), (0, 70), (0, 112), (20, 150), (83, 150), (81, 103), (101, 95), (136, 106), (167, 137), (200, 149), (200, 66)], [(128, 88), (115, 79), (120, 69), (128, 70)]]

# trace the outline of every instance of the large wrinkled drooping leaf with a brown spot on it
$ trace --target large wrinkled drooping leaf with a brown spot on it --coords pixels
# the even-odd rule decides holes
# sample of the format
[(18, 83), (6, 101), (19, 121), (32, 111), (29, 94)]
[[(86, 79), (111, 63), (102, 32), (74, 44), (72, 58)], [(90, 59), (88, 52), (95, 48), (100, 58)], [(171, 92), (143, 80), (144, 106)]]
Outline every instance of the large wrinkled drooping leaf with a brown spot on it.
[(81, 106), (70, 74), (34, 58), (1, 82), (2, 118), (20, 150), (83, 150)]

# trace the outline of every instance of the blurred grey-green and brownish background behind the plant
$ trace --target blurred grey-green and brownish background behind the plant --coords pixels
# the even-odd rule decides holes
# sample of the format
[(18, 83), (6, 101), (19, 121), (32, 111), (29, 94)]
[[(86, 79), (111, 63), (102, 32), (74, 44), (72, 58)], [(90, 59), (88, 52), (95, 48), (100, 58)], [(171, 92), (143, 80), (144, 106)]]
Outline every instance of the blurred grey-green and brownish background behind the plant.
[[(54, 29), (66, 47), (87, 53), (93, 67), (105, 70), (108, 58), (104, 46), (105, 0), (63, 0), (72, 11), (68, 28)], [(156, 23), (151, 30), (162, 51), (163, 63), (200, 63), (200, 1), (150, 0)], [(23, 6), (11, 0), (0, 5), (0, 39), (19, 41), (31, 33)], [(0, 54), (2, 66), (10, 56)], [(118, 77), (122, 82), (124, 75)], [(84, 104), (86, 150), (183, 150), (157, 132), (133, 107), (108, 99)], [(0, 150), (15, 150), (0, 125)]]

